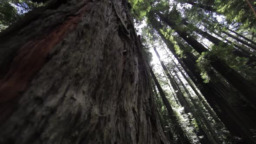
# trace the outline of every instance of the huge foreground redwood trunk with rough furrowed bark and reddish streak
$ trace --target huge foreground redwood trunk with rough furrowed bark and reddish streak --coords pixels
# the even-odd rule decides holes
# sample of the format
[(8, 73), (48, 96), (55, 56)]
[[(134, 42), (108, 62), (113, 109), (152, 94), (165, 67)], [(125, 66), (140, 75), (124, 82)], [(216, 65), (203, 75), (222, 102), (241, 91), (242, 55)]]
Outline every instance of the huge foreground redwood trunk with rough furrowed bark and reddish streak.
[(167, 144), (127, 1), (51, 4), (0, 35), (0, 143)]

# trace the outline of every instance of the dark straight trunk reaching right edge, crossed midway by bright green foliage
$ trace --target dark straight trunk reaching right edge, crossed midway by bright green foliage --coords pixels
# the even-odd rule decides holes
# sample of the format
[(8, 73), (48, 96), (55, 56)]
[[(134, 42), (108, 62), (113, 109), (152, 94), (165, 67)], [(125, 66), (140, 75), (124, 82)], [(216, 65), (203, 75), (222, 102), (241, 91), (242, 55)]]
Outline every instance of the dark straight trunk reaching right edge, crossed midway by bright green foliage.
[[(172, 27), (182, 39), (184, 39), (190, 46), (192, 46), (198, 53), (209, 52), (202, 44), (200, 44), (196, 39), (190, 36), (187, 32), (177, 27), (174, 22), (168, 19), (161, 13), (157, 13), (167, 25)], [(225, 79), (227, 79), (230, 84), (232, 84), (239, 92), (241, 92), (244, 98), (248, 101), (249, 105), (256, 108), (256, 90), (242, 75), (236, 72), (234, 69), (230, 68), (222, 59), (217, 56), (210, 55), (210, 64), (214, 69), (217, 70)]]

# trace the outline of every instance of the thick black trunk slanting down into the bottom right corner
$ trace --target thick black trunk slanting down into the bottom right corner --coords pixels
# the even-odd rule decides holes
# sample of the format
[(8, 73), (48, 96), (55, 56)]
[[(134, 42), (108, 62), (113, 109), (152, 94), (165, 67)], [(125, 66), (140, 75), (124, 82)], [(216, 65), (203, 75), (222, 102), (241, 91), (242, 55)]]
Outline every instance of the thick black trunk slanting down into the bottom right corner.
[[(159, 24), (159, 23), (157, 23)], [(196, 72), (195, 64), (196, 58), (190, 53), (186, 52), (186, 58), (179, 58), (177, 56), (174, 45), (167, 39), (160, 31), (161, 25), (154, 25), (158, 34), (166, 43), (167, 47), (174, 54), (175, 58), (187, 72), (192, 81), (197, 85), (200, 92), (206, 98), (207, 102), (216, 112), (220, 120), (225, 124), (226, 128), (233, 136), (242, 137), (243, 140), (237, 144), (252, 143), (256, 144), (253, 138), (251, 129), (255, 129), (255, 116), (251, 115), (252, 109), (243, 108), (242, 105), (231, 103), (230, 98), (235, 95), (222, 82), (204, 83), (199, 72)], [(162, 27), (161, 27), (162, 28)], [(240, 100), (241, 101), (241, 100)]]

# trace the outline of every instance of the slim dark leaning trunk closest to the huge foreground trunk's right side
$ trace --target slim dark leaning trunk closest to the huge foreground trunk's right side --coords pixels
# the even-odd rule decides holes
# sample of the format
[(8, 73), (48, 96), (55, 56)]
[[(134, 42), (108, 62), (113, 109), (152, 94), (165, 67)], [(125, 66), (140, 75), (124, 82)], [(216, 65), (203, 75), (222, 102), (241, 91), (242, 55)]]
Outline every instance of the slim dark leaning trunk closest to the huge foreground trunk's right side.
[(150, 68), (150, 73), (151, 73), (151, 76), (154, 79), (154, 82), (158, 88), (158, 91), (159, 91), (159, 94), (161, 95), (163, 103), (167, 108), (169, 117), (171, 119), (171, 123), (173, 125), (173, 130), (174, 130), (175, 134), (177, 134), (177, 136), (178, 136), (177, 144), (190, 144), (190, 141), (188, 140), (186, 133), (183, 131), (183, 129), (181, 128), (181, 125), (179, 124), (179, 121), (177, 120), (176, 116), (174, 115), (174, 111), (173, 111), (166, 95), (164, 94), (164, 90), (161, 88), (161, 85), (159, 84), (158, 79), (154, 75), (154, 72), (151, 68)]

